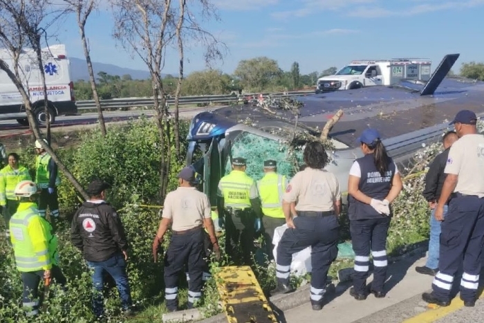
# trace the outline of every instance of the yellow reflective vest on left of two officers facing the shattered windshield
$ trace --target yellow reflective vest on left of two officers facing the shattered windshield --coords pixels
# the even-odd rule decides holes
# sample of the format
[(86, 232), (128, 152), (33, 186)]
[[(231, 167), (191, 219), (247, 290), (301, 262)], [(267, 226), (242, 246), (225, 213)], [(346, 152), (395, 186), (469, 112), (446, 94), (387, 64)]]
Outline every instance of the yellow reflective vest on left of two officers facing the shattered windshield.
[(250, 187), (252, 185), (254, 185), (254, 180), (245, 172), (232, 170), (218, 183), (218, 195), (223, 196), (225, 207), (245, 209), (250, 207)]

